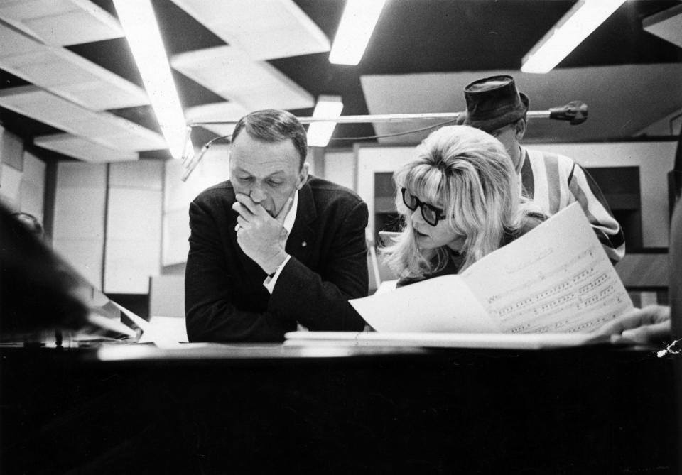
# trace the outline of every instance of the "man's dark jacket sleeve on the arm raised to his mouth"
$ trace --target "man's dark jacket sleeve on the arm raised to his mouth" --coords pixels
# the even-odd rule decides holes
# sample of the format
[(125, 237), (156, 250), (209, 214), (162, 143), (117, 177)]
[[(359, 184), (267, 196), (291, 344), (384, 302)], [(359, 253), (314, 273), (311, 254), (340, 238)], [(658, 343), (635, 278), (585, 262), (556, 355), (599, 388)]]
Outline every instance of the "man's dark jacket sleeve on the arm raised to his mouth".
[(362, 331), (364, 320), (348, 303), (367, 295), (367, 204), (351, 209), (330, 246), (320, 273), (291, 257), (279, 275), (268, 310), (296, 316), (313, 331)]

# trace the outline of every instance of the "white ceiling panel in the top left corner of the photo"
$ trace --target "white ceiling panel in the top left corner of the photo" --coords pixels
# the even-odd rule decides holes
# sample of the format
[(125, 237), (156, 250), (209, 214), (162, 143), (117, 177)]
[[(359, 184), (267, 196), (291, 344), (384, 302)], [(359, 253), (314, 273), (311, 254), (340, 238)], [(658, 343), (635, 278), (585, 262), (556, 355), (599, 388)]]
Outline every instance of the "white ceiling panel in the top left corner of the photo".
[(124, 36), (117, 19), (89, 0), (6, 0), (0, 3), (0, 18), (48, 45)]

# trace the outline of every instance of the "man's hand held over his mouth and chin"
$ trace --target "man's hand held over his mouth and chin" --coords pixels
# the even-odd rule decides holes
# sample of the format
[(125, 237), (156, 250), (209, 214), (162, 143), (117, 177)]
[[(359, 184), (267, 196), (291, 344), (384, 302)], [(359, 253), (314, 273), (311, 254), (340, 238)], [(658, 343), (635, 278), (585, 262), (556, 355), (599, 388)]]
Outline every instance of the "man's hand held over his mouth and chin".
[(237, 193), (232, 209), (237, 217), (237, 243), (242, 251), (253, 259), (267, 274), (274, 273), (284, 262), (286, 251), (286, 229), (283, 222), (291, 208), (293, 197), (289, 197), (276, 217), (271, 217), (261, 204), (248, 195)]

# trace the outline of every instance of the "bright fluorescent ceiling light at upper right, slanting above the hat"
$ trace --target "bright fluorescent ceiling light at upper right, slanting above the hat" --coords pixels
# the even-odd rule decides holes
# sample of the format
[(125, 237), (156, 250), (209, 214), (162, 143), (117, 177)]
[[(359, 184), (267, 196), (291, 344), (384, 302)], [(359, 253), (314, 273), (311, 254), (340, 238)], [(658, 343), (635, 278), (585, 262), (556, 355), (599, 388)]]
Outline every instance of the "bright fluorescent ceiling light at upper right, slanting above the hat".
[(550, 72), (625, 0), (580, 0), (524, 56), (521, 71)]

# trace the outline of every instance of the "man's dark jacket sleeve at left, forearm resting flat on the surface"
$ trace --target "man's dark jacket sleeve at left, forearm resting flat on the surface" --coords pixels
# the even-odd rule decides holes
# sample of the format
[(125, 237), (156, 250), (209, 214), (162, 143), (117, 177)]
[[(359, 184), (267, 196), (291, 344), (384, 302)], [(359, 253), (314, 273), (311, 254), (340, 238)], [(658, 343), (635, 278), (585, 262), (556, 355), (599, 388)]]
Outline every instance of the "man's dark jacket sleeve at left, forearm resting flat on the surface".
[(185, 269), (185, 317), (190, 342), (281, 341), (296, 322), (273, 312), (247, 312), (233, 305), (220, 231), (205, 202), (190, 204), (190, 252)]

